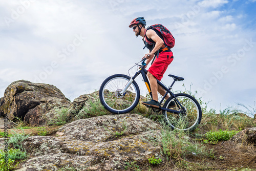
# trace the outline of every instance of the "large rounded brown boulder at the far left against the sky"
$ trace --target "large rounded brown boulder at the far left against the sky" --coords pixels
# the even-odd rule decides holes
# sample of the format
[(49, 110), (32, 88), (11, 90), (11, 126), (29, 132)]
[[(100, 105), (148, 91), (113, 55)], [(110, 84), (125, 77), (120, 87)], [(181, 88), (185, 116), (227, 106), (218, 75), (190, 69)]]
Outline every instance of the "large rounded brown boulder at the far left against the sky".
[(1, 116), (7, 115), (10, 120), (18, 117), (31, 125), (44, 125), (56, 108), (68, 108), (71, 101), (55, 86), (19, 80), (7, 87), (0, 104)]

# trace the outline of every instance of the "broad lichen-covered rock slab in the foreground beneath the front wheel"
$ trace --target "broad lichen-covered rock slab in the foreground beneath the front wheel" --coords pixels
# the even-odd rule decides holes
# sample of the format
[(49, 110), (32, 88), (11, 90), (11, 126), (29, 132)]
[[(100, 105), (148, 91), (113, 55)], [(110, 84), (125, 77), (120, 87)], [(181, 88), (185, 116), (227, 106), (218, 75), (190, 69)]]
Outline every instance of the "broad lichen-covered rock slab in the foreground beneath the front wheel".
[(161, 125), (137, 114), (105, 115), (62, 126), (57, 137), (23, 142), (30, 158), (18, 170), (124, 170), (125, 163), (148, 163), (160, 153)]

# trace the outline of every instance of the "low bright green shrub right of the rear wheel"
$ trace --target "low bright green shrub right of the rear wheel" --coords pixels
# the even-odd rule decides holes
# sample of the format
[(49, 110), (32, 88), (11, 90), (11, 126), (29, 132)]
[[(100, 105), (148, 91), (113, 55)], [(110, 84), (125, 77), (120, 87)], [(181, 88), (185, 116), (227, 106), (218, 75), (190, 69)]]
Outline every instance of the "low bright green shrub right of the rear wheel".
[(210, 131), (205, 134), (206, 138), (209, 141), (221, 141), (221, 140), (229, 140), (231, 137), (236, 135), (239, 131)]

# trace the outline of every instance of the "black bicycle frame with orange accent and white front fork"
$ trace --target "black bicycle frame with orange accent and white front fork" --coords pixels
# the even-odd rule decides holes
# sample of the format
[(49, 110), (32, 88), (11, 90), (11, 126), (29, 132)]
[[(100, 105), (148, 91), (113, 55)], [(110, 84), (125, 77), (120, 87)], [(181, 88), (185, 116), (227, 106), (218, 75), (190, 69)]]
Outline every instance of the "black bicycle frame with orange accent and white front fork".
[[(145, 69), (145, 59), (142, 61), (142, 66), (139, 68), (139, 71), (135, 73), (135, 75), (130, 79), (130, 81), (126, 84), (125, 88), (119, 92), (121, 95), (125, 95), (125, 91), (130, 87), (131, 83), (134, 81), (134, 79), (138, 76), (138, 75), (142, 75), (142, 78), (146, 84), (146, 88), (148, 90), (148, 93), (150, 93), (150, 96), (152, 98), (152, 92), (151, 92), (151, 87), (150, 87), (150, 81), (148, 81), (148, 78), (146, 76), (147, 74), (147, 70)], [(158, 83), (158, 86), (161, 86), (165, 91), (165, 95), (163, 96), (163, 98), (161, 99), (160, 101), (160, 105), (162, 104), (164, 98), (167, 96), (167, 94), (169, 93), (170, 96), (173, 96), (175, 99), (176, 99), (176, 102), (179, 104), (179, 106), (181, 106), (182, 108), (182, 111), (184, 111), (184, 108), (183, 106), (180, 104), (180, 102), (177, 100), (177, 98), (175, 97), (174, 93), (170, 91), (170, 89), (172, 89), (174, 83), (177, 81), (177, 79), (174, 79), (173, 83), (171, 86), (169, 86), (168, 88), (166, 88), (164, 86), (164, 84), (162, 84), (158, 79), (157, 79), (157, 83)], [(181, 111), (176, 111), (176, 110), (172, 110), (172, 109), (166, 109), (166, 108), (159, 108), (159, 110), (164, 110), (164, 111), (167, 111), (167, 112), (172, 112), (172, 113), (175, 113), (175, 114), (180, 114), (182, 113)]]

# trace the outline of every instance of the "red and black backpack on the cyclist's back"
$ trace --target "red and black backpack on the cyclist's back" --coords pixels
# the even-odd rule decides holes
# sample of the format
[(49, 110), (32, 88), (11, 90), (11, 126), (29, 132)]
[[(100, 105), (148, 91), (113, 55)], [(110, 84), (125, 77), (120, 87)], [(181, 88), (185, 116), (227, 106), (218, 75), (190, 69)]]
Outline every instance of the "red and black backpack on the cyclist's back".
[(154, 44), (153, 42), (148, 41), (148, 39), (146, 38), (146, 30), (148, 30), (148, 29), (153, 29), (153, 30), (158, 31), (163, 36), (164, 44), (166, 46), (168, 46), (169, 48), (174, 47), (174, 45), (175, 45), (174, 36), (172, 35), (172, 33), (170, 33), (170, 31), (166, 27), (164, 27), (161, 24), (155, 24), (155, 25), (152, 25), (152, 26), (148, 27), (147, 29), (145, 29), (144, 35), (145, 35), (145, 41), (147, 42), (147, 44), (149, 44), (149, 45)]

